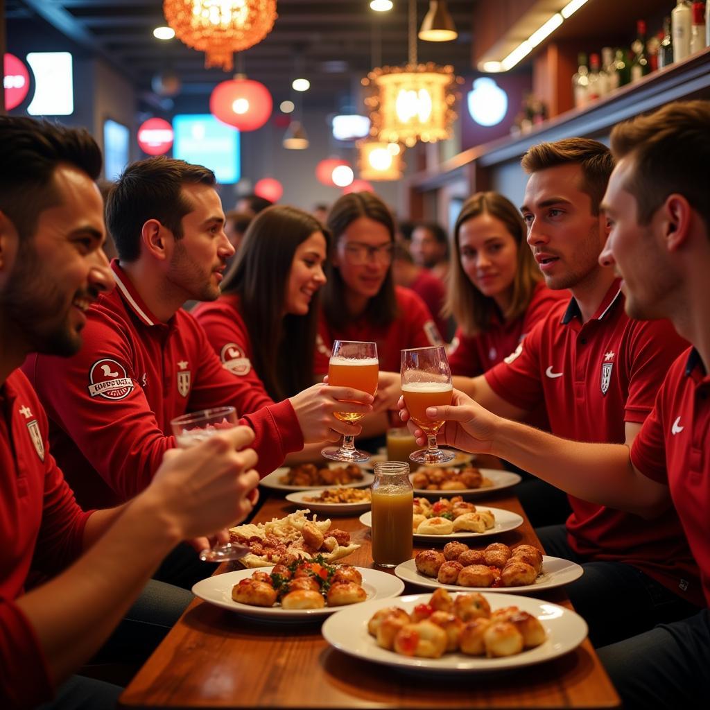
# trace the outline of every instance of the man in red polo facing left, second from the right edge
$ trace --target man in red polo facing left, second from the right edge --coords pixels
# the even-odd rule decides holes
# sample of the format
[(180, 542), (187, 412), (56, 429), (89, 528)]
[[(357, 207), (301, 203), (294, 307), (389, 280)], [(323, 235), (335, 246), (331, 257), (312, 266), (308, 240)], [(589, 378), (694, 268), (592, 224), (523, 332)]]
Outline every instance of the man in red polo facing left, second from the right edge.
[[(667, 321), (630, 320), (620, 280), (599, 264), (608, 234), (599, 209), (613, 169), (608, 148), (586, 138), (542, 143), (530, 148), (523, 168), (530, 174), (521, 208), (528, 244), (547, 285), (569, 288), (572, 300), (553, 308), (501, 364), (474, 379), (454, 378), (454, 387), (514, 420), (544, 403), (550, 437), (569, 447), (577, 445), (569, 440), (630, 445), (687, 344)], [(448, 428), (444, 437), (459, 446)], [(496, 454), (537, 474), (507, 449)], [(575, 466), (560, 469), (572, 486)], [(561, 487), (572, 493), (572, 515), (566, 525), (536, 532), (548, 555), (583, 565), (566, 591), (595, 645), (697, 610), (697, 565), (673, 510), (644, 520)]]

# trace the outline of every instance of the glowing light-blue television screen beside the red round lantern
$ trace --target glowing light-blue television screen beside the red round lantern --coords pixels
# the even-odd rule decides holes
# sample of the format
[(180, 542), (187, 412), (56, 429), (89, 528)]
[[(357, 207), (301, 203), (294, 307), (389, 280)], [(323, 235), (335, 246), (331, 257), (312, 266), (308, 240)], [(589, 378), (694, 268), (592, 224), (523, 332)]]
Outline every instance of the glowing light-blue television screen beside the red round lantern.
[(239, 131), (212, 114), (182, 114), (173, 119), (173, 157), (204, 165), (214, 171), (217, 182), (239, 182), (241, 165)]

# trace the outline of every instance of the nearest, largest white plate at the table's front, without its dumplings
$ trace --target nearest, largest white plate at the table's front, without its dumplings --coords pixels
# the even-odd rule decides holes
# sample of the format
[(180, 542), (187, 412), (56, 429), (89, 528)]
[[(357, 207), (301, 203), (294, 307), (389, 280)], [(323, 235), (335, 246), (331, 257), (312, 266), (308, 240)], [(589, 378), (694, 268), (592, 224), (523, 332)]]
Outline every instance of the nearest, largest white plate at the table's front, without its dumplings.
[(367, 623), (373, 613), (386, 606), (400, 606), (412, 611), (420, 603), (427, 603), (430, 594), (409, 594), (397, 599), (366, 601), (344, 608), (325, 621), (322, 634), (327, 642), (351, 656), (375, 663), (396, 666), (409, 670), (439, 671), (492, 671), (503, 668), (519, 668), (547, 661), (574, 650), (586, 638), (586, 623), (579, 614), (557, 604), (529, 596), (515, 594), (490, 594), (486, 596), (491, 609), (503, 606), (518, 606), (522, 611), (537, 616), (547, 632), (547, 640), (537, 648), (503, 658), (467, 656), (463, 653), (445, 653), (441, 658), (417, 658), (403, 656), (377, 645), (367, 633)]

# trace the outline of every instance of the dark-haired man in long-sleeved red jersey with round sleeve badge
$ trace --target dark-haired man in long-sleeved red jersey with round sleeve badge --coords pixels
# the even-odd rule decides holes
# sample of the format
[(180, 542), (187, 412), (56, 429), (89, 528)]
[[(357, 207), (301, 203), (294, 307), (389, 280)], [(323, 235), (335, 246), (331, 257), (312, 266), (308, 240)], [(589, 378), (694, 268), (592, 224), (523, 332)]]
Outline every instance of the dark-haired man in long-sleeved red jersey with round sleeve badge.
[[(222, 366), (202, 327), (182, 310), (190, 299), (217, 299), (234, 253), (214, 185), (211, 170), (183, 160), (129, 165), (106, 209), (119, 253), (111, 263), (116, 289), (87, 310), (77, 355), (35, 355), (23, 368), (82, 506), (116, 505), (142, 491), (175, 446), (170, 420), (191, 411), (234, 405), (256, 434), (262, 475), (305, 443), (360, 431), (334, 411), (371, 411), (371, 395), (322, 384), (274, 404)], [(190, 589), (204, 575), (204, 563), (182, 547), (156, 578)]]

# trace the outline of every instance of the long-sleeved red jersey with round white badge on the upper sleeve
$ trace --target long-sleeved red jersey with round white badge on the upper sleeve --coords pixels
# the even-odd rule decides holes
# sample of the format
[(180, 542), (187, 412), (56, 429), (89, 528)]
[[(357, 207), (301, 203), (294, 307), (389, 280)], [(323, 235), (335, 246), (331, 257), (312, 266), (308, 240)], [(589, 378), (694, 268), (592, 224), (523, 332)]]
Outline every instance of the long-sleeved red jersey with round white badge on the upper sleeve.
[[(273, 405), (230, 373), (200, 324), (182, 309), (168, 323), (148, 309), (126, 273), (88, 312), (71, 358), (30, 356), (23, 369), (50, 417), (50, 442), (84, 507), (108, 508), (146, 488), (166, 449), (170, 420), (234, 405), (256, 433), (261, 474), (303, 447), (288, 400)], [(265, 406), (268, 405), (268, 406)]]

